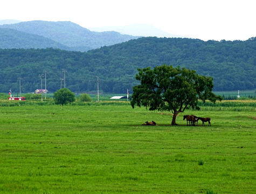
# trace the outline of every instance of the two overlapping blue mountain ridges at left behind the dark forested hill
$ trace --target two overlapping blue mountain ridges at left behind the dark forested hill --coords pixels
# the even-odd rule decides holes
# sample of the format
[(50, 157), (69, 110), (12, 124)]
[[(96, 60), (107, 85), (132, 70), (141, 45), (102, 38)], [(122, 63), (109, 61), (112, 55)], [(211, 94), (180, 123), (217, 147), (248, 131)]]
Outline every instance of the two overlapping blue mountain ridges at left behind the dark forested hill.
[(12, 24), (0, 25), (0, 49), (53, 47), (84, 52), (139, 38), (115, 31), (92, 32), (72, 22), (34, 20), (16, 23), (17, 20), (2, 20), (3, 22)]

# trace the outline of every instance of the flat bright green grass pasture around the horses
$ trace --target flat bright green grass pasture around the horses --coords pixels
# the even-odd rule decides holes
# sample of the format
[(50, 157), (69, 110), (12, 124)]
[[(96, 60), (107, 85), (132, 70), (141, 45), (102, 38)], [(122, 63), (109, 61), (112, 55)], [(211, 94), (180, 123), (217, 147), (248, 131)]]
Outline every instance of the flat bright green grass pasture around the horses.
[(0, 193), (255, 193), (256, 101), (179, 126), (129, 102), (15, 103), (0, 102)]

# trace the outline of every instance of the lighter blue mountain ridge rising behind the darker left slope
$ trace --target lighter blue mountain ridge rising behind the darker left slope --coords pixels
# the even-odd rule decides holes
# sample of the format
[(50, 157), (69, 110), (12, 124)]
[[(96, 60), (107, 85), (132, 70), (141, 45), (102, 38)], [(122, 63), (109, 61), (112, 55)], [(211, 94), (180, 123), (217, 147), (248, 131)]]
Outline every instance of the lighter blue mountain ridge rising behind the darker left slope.
[[(84, 52), (97, 49), (102, 46), (114, 45), (130, 39), (139, 38), (114, 31), (92, 32), (72, 22), (47, 22), (42, 20), (33, 20), (30, 22), (4, 24), (0, 27), (43, 36), (66, 46), (69, 48), (69, 51)], [(12, 48), (17, 47), (13, 46)]]

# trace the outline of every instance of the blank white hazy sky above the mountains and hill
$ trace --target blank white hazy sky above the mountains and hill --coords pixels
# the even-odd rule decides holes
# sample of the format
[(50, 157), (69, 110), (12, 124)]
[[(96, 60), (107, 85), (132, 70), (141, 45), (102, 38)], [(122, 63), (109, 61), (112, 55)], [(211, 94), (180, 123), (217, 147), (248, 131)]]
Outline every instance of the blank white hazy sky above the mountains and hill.
[(151, 24), (202, 40), (256, 37), (255, 0), (6, 0), (0, 20), (71, 21), (82, 27)]

